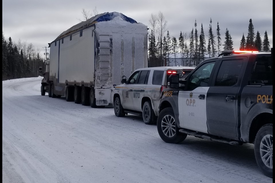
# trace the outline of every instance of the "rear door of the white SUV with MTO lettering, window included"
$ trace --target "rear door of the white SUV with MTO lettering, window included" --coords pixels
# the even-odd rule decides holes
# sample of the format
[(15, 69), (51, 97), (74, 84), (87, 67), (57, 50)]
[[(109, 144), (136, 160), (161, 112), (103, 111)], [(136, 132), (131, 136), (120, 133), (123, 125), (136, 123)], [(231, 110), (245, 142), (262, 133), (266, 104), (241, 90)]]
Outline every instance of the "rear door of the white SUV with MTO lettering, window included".
[(136, 111), (142, 112), (142, 98), (148, 83), (150, 70), (142, 70), (138, 76), (136, 84), (132, 85), (133, 88), (133, 108)]

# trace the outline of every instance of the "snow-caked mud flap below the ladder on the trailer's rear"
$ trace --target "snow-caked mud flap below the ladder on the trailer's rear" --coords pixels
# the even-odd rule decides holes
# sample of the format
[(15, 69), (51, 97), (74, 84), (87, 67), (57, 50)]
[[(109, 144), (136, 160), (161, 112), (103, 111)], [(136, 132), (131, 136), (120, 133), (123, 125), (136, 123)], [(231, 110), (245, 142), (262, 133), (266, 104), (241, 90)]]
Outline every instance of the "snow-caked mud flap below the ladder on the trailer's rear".
[(95, 99), (97, 106), (107, 106), (111, 103), (111, 89), (95, 89)]

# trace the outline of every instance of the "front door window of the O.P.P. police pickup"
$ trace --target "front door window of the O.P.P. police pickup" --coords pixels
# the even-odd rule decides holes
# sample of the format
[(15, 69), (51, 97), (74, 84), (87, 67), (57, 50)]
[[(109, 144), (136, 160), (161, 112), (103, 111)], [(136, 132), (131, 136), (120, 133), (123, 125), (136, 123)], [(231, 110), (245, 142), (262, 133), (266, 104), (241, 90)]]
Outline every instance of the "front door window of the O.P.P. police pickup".
[(208, 86), (214, 65), (215, 62), (206, 63), (190, 75), (187, 90), (193, 90), (199, 86)]

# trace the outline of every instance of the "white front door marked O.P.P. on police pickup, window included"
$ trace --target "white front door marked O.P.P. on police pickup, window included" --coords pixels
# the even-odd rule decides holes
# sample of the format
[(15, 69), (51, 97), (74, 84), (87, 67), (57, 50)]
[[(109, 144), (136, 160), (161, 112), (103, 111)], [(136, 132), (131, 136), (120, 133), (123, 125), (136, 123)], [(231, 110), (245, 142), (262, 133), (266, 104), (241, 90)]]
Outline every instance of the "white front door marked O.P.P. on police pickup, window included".
[(188, 76), (185, 91), (179, 91), (178, 112), (181, 128), (207, 133), (207, 91), (211, 85), (214, 66), (214, 61), (200, 65)]

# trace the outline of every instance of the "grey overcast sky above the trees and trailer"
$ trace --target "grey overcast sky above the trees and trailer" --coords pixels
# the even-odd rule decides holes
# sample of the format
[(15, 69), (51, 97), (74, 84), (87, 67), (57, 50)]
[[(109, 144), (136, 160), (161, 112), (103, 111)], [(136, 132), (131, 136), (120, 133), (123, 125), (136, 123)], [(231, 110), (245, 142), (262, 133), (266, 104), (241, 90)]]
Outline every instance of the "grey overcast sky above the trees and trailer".
[[(221, 41), (224, 43), (225, 30), (233, 39), (233, 48), (239, 50), (241, 37), (247, 36), (249, 20), (252, 19), (255, 35), (259, 31), (262, 40), (267, 31), (270, 48), (273, 47), (273, 2), (272, 0), (3, 0), (2, 31), (5, 39), (13, 43), (26, 41), (45, 52), (43, 47), (54, 41), (60, 33), (83, 20), (82, 9), (90, 13), (119, 12), (149, 26), (150, 15), (161, 11), (167, 20), (170, 37), (179, 37), (195, 29), (200, 34), (201, 24), (206, 40), (210, 18), (216, 32), (219, 22)], [(166, 31), (167, 33), (167, 31)], [(165, 34), (166, 34), (165, 33)], [(49, 48), (47, 48), (48, 51)], [(44, 56), (44, 55), (43, 55)]]

